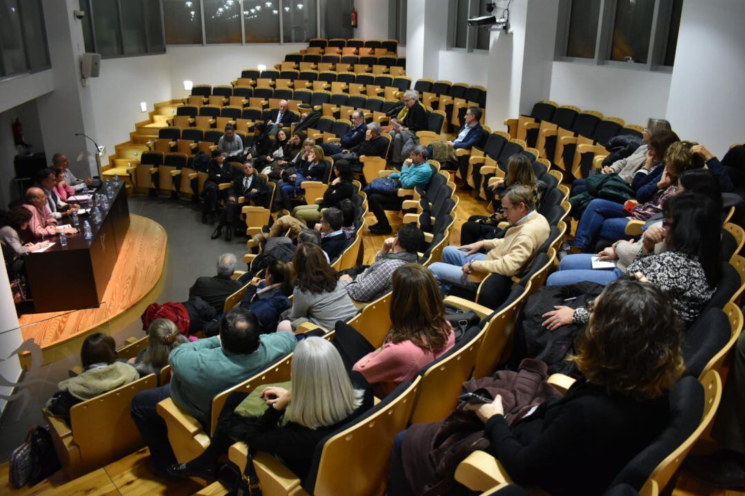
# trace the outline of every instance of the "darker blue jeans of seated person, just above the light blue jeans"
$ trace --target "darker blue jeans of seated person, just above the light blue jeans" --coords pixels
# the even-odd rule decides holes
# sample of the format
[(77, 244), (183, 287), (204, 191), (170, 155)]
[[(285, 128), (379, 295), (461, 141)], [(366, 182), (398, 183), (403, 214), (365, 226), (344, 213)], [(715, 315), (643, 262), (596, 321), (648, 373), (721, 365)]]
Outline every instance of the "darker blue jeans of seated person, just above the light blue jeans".
[(572, 245), (588, 250), (595, 247), (598, 239), (631, 239), (626, 233), (626, 225), (629, 222), (627, 216), (624, 205), (620, 203), (603, 199), (592, 200), (582, 214), (580, 224), (577, 225)]

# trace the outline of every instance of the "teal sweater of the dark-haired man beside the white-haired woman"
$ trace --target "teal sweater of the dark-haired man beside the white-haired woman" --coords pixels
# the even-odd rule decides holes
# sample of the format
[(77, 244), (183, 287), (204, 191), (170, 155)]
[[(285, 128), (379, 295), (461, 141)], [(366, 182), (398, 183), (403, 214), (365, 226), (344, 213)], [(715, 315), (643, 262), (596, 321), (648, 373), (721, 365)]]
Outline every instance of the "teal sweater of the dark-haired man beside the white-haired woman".
[(171, 398), (176, 405), (207, 425), (212, 399), (289, 355), (297, 344), (291, 332), (261, 335), (259, 349), (248, 355), (223, 350), (220, 340), (200, 339), (182, 344), (168, 356), (174, 370)]

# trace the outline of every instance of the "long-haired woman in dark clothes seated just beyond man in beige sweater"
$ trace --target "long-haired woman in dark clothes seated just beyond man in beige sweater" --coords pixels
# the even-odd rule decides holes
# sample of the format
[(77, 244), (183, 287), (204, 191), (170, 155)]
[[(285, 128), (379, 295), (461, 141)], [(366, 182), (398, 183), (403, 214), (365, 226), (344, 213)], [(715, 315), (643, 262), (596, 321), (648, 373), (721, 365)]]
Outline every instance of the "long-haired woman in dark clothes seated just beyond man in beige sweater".
[(494, 213), (490, 216), (470, 216), (468, 222), (463, 222), (460, 226), (460, 244), (469, 245), (480, 239), (493, 238), (498, 231), (499, 222), (504, 220), (504, 210), (502, 210), (501, 196), (508, 187), (516, 184), (524, 184), (533, 190), (535, 205), (541, 202), (541, 196), (546, 190), (546, 184), (536, 179), (536, 173), (533, 171), (533, 164), (530, 158), (522, 154), (515, 154), (507, 162), (507, 175), (504, 179), (496, 181), (492, 186), (486, 187), (489, 202), (494, 206)]

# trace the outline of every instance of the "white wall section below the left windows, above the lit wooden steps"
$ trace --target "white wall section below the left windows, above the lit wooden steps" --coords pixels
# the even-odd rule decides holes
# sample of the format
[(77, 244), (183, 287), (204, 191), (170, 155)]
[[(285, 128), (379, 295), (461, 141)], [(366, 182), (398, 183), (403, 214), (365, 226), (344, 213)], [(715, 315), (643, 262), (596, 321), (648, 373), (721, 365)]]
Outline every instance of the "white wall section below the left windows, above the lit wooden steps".
[[(101, 60), (101, 76), (89, 79), (88, 86), (96, 123), (92, 138), (106, 146), (106, 164), (114, 146), (129, 141), (135, 123), (148, 120), (154, 103), (171, 100), (169, 56)], [(140, 102), (148, 104), (148, 112), (140, 111)]]

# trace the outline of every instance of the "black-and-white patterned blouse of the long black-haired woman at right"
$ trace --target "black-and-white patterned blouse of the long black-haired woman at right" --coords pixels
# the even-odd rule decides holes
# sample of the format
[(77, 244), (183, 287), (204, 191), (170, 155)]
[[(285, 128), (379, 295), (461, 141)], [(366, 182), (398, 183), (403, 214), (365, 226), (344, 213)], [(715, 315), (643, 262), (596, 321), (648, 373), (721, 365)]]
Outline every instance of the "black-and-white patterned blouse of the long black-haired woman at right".
[[(640, 251), (627, 268), (627, 274), (636, 272), (644, 274), (650, 283), (659, 286), (673, 298), (673, 307), (686, 326), (701, 315), (716, 290), (716, 287), (708, 286), (698, 257), (679, 251), (647, 255)], [(580, 308), (574, 311), (573, 321), (577, 324), (587, 323), (589, 317), (589, 312)]]

